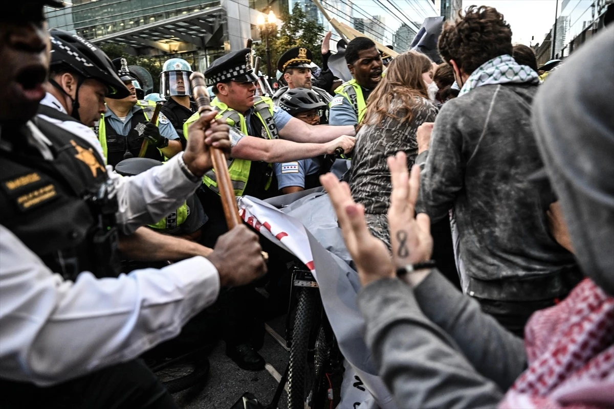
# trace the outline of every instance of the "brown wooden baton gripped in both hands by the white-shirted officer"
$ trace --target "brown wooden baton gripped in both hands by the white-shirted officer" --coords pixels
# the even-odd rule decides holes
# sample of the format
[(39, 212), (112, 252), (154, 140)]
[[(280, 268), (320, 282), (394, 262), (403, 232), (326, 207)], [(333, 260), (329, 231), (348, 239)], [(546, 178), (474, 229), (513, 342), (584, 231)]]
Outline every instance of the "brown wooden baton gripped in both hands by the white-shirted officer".
[[(198, 112), (204, 113), (213, 110), (211, 108), (209, 93), (204, 82), (204, 75), (200, 72), (193, 72), (192, 75), (190, 75), (190, 84), (192, 84), (192, 93), (194, 94), (196, 105), (198, 105)], [(230, 174), (228, 174), (226, 157), (219, 148), (209, 147), (209, 151), (211, 152), (213, 169), (216, 172), (217, 188), (220, 191), (224, 216), (226, 217), (226, 223), (230, 230), (242, 222), (239, 216), (239, 207), (236, 205), (235, 191), (232, 188)]]

